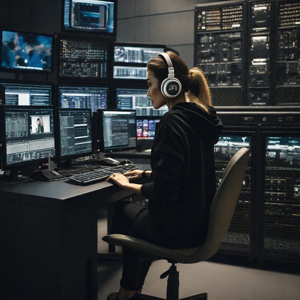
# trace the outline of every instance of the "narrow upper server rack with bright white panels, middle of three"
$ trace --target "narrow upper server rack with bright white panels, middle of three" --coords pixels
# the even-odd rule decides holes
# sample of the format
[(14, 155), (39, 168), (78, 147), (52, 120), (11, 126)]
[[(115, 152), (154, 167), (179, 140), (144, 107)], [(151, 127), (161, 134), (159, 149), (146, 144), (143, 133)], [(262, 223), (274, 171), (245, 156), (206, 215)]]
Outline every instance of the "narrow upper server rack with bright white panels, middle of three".
[(247, 105), (273, 105), (274, 2), (248, 2)]

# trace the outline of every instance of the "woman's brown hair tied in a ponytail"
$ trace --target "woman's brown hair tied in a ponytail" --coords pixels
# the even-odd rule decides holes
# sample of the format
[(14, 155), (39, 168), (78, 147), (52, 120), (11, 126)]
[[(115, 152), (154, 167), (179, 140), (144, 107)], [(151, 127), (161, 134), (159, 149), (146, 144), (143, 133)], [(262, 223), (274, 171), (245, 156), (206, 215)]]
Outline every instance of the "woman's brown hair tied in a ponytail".
[[(202, 70), (198, 67), (189, 70), (186, 63), (176, 53), (166, 52), (172, 61), (175, 77), (181, 82), (182, 91), (190, 102), (197, 104), (208, 113), (205, 105), (211, 106), (211, 96), (207, 79)], [(163, 58), (160, 56), (150, 59), (147, 68), (153, 72), (159, 85), (168, 77), (168, 68)]]

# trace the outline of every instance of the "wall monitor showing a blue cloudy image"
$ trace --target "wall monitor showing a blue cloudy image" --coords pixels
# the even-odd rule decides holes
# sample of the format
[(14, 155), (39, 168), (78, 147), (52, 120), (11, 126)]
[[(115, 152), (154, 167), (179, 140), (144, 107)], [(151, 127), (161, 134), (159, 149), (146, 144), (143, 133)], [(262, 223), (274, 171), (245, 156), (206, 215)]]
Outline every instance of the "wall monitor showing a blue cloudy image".
[(52, 71), (53, 37), (30, 32), (1, 32), (1, 68)]

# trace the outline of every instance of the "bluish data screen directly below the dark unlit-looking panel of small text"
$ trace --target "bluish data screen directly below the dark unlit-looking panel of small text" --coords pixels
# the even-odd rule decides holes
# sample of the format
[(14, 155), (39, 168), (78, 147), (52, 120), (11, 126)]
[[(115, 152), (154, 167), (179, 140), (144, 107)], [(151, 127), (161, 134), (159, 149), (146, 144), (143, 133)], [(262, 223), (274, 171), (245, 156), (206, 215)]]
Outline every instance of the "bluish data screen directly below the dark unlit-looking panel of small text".
[(62, 108), (90, 108), (92, 112), (107, 108), (108, 88), (88, 86), (59, 86)]

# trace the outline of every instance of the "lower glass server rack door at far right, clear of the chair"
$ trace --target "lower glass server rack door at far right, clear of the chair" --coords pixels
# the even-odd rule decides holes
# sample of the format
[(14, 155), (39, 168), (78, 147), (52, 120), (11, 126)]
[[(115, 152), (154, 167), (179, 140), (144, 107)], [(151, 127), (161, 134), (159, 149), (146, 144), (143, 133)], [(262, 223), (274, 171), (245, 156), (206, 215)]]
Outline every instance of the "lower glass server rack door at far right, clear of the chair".
[(300, 259), (300, 127), (261, 138), (260, 253)]

